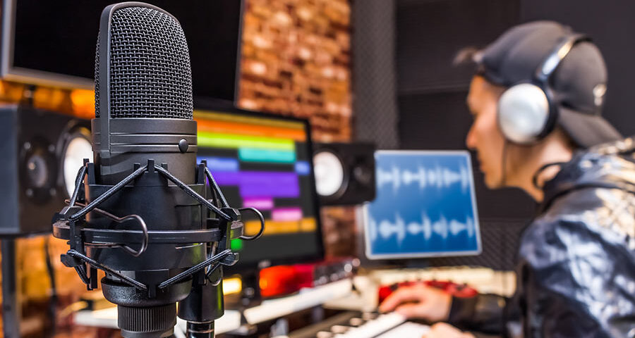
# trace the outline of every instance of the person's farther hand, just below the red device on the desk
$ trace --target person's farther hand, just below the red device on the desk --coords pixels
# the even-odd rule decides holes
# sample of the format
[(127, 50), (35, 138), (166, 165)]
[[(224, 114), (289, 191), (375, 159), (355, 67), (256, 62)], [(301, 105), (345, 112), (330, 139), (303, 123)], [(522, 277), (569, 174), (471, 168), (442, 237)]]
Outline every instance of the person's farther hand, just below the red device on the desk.
[(380, 311), (396, 311), (407, 318), (417, 318), (430, 322), (447, 320), (452, 296), (440, 289), (415, 285), (400, 287), (380, 305)]

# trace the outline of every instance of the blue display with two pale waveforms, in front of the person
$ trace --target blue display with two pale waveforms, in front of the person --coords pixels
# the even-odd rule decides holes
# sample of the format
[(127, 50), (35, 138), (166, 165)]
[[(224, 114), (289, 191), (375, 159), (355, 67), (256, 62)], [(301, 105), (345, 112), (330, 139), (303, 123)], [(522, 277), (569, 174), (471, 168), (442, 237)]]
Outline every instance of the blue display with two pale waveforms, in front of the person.
[(467, 151), (377, 151), (377, 197), (364, 208), (370, 259), (480, 253)]

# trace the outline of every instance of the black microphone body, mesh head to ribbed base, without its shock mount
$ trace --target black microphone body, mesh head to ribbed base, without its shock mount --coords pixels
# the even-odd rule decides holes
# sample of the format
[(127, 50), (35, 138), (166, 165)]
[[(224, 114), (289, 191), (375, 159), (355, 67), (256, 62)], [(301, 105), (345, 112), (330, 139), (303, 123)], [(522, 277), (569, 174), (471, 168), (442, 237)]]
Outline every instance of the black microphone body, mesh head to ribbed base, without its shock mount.
[[(102, 12), (98, 39), (92, 120), (95, 182), (86, 186), (87, 200), (94, 201), (150, 159), (205, 196), (205, 182), (195, 182), (192, 79), (178, 20), (145, 4), (114, 4)], [(139, 215), (148, 231), (205, 228), (200, 203), (170, 186), (154, 168), (101, 208), (114, 215)], [(91, 227), (104, 229), (114, 223), (95, 212), (87, 220)], [(102, 279), (104, 296), (117, 304), (124, 337), (171, 334), (176, 302), (188, 296), (191, 281), (161, 291), (157, 285), (202, 262), (206, 249), (205, 243), (152, 244), (135, 258), (121, 248), (87, 249), (90, 258), (148, 286), (144, 294), (113, 275)]]

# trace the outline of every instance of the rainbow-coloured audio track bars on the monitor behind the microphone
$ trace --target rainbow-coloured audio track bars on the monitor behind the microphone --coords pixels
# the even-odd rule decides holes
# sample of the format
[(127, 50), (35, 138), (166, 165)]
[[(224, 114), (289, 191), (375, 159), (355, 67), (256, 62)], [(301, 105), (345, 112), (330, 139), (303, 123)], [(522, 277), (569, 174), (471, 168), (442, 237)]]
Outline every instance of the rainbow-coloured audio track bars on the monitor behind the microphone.
[[(274, 235), (315, 232), (317, 222), (306, 204), (309, 154), (303, 123), (257, 116), (195, 111), (198, 122), (198, 161), (207, 161), (228, 199), (243, 207), (258, 208), (266, 218), (263, 239)], [(303, 157), (303, 158), (299, 158)], [(231, 189), (234, 189), (232, 195)], [(246, 221), (247, 234), (258, 232)], [(240, 241), (232, 247), (241, 249)]]

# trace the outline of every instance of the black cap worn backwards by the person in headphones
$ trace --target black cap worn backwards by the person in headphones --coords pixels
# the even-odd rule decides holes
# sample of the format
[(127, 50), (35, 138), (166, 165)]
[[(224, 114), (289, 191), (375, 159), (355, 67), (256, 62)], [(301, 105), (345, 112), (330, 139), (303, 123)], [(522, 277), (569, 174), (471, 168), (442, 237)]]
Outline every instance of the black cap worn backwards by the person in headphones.
[[(552, 21), (517, 25), (478, 52), (475, 61), (489, 82), (511, 87), (534, 79), (536, 69), (564, 39), (577, 34)], [(607, 71), (595, 44), (579, 42), (550, 77), (559, 106), (558, 124), (583, 148), (622, 139), (602, 116)]]

